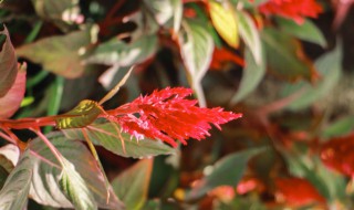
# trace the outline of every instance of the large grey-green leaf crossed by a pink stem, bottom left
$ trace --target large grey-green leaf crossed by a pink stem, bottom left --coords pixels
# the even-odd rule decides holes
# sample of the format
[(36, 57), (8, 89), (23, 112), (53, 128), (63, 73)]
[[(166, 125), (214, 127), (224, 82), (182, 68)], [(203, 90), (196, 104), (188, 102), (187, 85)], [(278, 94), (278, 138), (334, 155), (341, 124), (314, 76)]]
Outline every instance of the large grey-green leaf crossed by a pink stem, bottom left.
[[(114, 196), (113, 191), (111, 191), (110, 202), (106, 202), (107, 189), (104, 177), (97, 162), (81, 141), (67, 140), (59, 132), (51, 133), (48, 135), (48, 138), (63, 157), (66, 158), (63, 161), (67, 167), (62, 169), (46, 145), (39, 138), (33, 139), (29, 145), (34, 159), (34, 171), (30, 190), (33, 200), (38, 203), (56, 208), (72, 208), (73, 206), (69, 199), (76, 206), (82, 204), (82, 208), (86, 204), (95, 207), (96, 203), (100, 208), (122, 208), (122, 202)], [(71, 183), (73, 186), (70, 186)], [(69, 199), (65, 196), (66, 193), (71, 196)], [(80, 200), (76, 200), (79, 198), (73, 197), (76, 193), (83, 196), (83, 201), (87, 201), (87, 203), (81, 203)]]

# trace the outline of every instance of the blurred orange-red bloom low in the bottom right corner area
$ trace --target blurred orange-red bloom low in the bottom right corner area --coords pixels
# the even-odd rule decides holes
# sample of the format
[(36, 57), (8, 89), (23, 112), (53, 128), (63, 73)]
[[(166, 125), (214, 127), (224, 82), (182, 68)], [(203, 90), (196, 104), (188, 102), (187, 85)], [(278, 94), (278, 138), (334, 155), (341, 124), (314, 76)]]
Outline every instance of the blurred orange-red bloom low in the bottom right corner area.
[(325, 199), (306, 179), (278, 178), (275, 187), (277, 199), (291, 207), (325, 202)]

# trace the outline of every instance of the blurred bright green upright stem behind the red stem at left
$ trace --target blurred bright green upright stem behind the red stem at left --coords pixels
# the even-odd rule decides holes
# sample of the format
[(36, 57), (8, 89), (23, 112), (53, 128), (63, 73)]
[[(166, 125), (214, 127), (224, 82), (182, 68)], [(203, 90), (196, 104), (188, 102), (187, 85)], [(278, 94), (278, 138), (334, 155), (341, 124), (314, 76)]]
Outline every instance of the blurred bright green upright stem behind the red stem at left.
[[(63, 96), (63, 90), (64, 90), (64, 77), (56, 76), (54, 84), (50, 88), (50, 98), (49, 98), (49, 105), (46, 109), (46, 115), (58, 115), (60, 109), (60, 104)], [(43, 133), (46, 134), (53, 129), (52, 126), (46, 126), (43, 128)]]

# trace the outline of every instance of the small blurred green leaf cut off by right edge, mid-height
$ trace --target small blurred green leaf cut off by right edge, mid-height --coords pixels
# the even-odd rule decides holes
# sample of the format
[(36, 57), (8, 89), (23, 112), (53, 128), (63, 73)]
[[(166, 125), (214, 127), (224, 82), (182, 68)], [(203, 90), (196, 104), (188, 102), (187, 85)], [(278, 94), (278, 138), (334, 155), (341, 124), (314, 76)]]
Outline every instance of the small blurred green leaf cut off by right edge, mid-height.
[(337, 119), (322, 132), (324, 138), (332, 138), (350, 134), (354, 129), (354, 116)]

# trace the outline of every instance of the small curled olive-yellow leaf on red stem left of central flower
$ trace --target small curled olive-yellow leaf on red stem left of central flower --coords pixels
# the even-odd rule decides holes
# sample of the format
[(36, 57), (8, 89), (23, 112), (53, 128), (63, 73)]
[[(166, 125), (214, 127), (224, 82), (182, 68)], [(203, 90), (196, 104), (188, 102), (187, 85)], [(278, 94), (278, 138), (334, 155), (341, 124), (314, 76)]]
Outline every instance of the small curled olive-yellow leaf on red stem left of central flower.
[(56, 127), (67, 129), (87, 126), (93, 123), (102, 112), (103, 109), (96, 102), (84, 99), (70, 112), (56, 117)]

